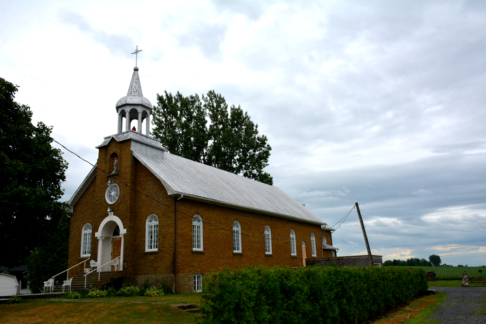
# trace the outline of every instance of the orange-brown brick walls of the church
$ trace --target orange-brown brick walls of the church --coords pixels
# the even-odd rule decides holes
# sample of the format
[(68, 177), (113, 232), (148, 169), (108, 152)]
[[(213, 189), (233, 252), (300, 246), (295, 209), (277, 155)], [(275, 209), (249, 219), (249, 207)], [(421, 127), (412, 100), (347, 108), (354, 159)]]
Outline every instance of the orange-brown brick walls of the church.
[[(152, 278), (156, 275), (174, 274), (174, 197), (169, 196), (160, 180), (132, 155), (130, 141), (119, 143), (112, 140), (107, 147), (101, 148), (98, 167), (107, 173), (112, 172), (110, 157), (113, 160), (113, 153), (118, 156), (118, 175), (115, 177), (162, 203), (147, 198), (111, 178), (112, 182), (120, 187), (120, 198), (112, 208), (114, 215), (120, 218), (123, 227), (127, 230), (124, 235), (124, 263), (127, 275), (136, 280), (137, 276)], [(108, 216), (107, 209), (110, 207), (104, 198), (107, 181), (106, 174), (98, 170), (95, 179), (74, 205), (69, 240), (69, 267), (82, 260), (80, 258), (81, 232), (87, 222), (93, 228), (91, 258), (97, 260), (98, 241), (95, 233), (99, 231), (101, 222)], [(324, 256), (321, 249), (321, 235), (326, 236), (328, 244), (332, 244), (330, 232), (321, 234), (320, 225), (185, 198), (178, 200), (177, 205), (180, 211), (177, 215), (177, 273), (181, 275), (210, 273), (217, 272), (221, 268), (235, 269), (252, 265), (298, 267), (302, 264), (302, 241), (306, 244), (307, 257), (312, 256), (311, 233), (315, 235), (317, 257)], [(158, 250), (145, 252), (146, 221), (152, 214), (158, 217)], [(192, 251), (194, 215), (200, 215), (203, 222), (207, 222), (202, 226), (204, 253)], [(242, 254), (233, 254), (232, 229), (235, 221), (241, 224)], [(272, 234), (272, 256), (265, 255), (265, 242), (262, 239), (267, 225)], [(296, 256), (291, 256), (290, 251), (291, 229), (295, 231)], [(81, 267), (77, 267), (73, 274), (81, 272)], [(189, 279), (184, 281), (190, 282)], [(191, 290), (189, 287), (184, 289)]]

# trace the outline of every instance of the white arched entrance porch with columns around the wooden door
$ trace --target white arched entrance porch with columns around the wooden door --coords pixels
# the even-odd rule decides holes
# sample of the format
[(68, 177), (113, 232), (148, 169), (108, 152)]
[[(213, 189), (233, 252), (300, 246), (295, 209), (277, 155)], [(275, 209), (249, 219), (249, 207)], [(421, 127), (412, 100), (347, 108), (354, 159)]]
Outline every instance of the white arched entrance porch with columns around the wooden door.
[[(98, 239), (98, 269), (99, 271), (123, 270), (123, 236), (126, 228), (120, 218), (108, 212), (100, 224), (95, 237)], [(117, 267), (110, 265), (110, 261), (120, 256)], [(107, 263), (107, 264), (106, 264)]]

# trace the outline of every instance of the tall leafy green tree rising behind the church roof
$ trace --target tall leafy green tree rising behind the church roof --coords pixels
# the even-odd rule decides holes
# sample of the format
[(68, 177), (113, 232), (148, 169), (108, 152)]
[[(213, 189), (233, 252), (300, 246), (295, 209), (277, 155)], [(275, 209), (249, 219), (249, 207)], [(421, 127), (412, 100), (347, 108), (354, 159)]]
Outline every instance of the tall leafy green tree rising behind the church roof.
[(171, 153), (273, 185), (263, 171), (272, 148), (240, 106), (228, 107), (214, 90), (201, 99), (197, 94), (164, 94), (157, 94), (152, 136)]

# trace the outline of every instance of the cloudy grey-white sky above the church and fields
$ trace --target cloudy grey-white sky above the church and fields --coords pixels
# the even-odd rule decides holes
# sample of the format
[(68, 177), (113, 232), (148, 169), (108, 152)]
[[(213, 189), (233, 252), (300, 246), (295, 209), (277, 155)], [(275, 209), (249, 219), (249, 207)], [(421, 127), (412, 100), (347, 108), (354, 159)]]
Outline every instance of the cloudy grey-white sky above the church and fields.
[[(91, 162), (143, 94), (214, 89), (272, 146), (274, 185), (372, 252), (486, 264), (486, 1), (0, 0), (0, 76)], [(90, 166), (70, 153), (65, 200)], [(336, 225), (337, 227), (337, 225)], [(351, 212), (338, 256), (366, 254)]]

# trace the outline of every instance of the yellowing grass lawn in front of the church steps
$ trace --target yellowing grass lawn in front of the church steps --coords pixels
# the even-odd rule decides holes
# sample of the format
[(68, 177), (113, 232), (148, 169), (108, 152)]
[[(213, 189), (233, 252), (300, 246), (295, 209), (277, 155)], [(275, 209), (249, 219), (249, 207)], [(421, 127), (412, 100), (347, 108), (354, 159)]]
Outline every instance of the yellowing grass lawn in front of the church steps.
[[(162, 297), (102, 297), (79, 301), (52, 299), (26, 300), (20, 304), (1, 304), (1, 324), (24, 323), (191, 323), (197, 314), (187, 313), (166, 304), (199, 305), (201, 294), (178, 294)], [(164, 303), (163, 305), (155, 303)]]

